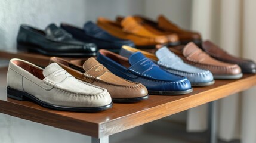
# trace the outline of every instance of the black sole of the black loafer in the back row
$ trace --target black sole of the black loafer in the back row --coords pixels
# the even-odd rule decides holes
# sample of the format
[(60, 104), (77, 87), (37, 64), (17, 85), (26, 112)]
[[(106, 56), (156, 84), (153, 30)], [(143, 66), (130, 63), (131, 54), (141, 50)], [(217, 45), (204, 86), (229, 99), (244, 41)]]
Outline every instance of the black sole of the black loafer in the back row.
[(97, 52), (91, 52), (91, 53), (72, 53), (72, 52), (47, 52), (44, 51), (44, 49), (39, 48), (38, 46), (32, 46), (32, 45), (24, 45), (21, 43), (18, 43), (17, 49), (19, 51), (26, 51), (26, 52), (37, 52), (39, 54), (48, 55), (48, 56), (58, 56), (58, 57), (91, 57), (97, 55)]

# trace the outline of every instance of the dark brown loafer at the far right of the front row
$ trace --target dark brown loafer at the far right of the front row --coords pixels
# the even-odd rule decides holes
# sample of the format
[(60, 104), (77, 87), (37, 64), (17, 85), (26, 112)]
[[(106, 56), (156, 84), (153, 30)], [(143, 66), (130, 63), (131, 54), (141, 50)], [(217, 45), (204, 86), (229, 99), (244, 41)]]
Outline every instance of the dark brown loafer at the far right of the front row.
[(211, 41), (203, 42), (201, 48), (217, 60), (238, 64), (242, 69), (242, 73), (256, 73), (256, 64), (254, 61), (230, 55)]

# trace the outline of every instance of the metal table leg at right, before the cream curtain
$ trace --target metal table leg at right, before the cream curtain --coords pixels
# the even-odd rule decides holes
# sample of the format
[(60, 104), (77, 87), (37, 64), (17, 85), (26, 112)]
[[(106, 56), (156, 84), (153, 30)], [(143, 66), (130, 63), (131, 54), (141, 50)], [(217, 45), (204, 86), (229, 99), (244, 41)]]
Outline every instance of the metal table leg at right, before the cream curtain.
[(217, 143), (217, 101), (209, 103), (208, 126), (210, 131), (210, 143)]

